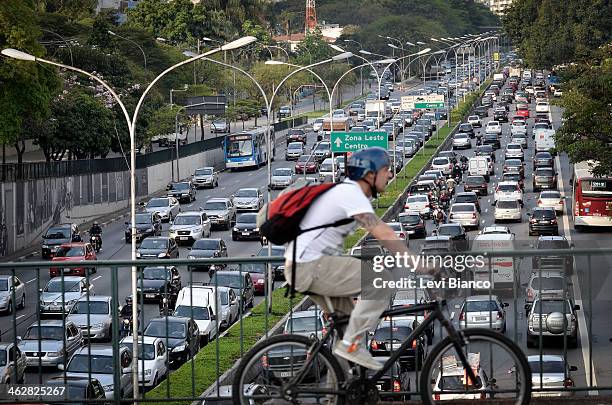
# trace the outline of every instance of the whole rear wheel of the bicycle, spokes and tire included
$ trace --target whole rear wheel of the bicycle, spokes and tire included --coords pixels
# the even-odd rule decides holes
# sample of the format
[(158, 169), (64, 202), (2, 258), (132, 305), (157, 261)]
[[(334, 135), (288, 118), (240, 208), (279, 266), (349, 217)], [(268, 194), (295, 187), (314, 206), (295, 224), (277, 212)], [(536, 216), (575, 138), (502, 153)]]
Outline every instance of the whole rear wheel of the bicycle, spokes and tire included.
[[(269, 404), (280, 400), (344, 405), (344, 395), (339, 395), (344, 372), (327, 347), (321, 347), (305, 369), (312, 344), (304, 336), (277, 335), (255, 345), (242, 358), (234, 376), (234, 404)], [(302, 371), (304, 378), (294, 381)]]

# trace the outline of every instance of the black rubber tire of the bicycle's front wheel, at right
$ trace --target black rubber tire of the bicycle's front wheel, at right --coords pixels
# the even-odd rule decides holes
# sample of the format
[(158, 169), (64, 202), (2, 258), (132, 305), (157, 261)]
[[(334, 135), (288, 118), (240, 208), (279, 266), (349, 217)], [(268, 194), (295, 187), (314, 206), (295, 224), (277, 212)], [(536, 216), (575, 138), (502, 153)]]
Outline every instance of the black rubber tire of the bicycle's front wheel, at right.
[[(499, 332), (495, 332), (489, 329), (481, 329), (481, 328), (470, 328), (461, 331), (468, 342), (470, 339), (481, 336), (484, 337), (484, 340), (494, 340), (500, 346), (505, 346), (506, 349), (511, 352), (518, 363), (516, 364), (516, 373), (521, 374), (524, 377), (525, 383), (521, 387), (521, 391), (525, 391), (522, 396), (520, 402), (517, 404), (520, 405), (528, 405), (531, 400), (531, 368), (529, 367), (529, 363), (527, 362), (527, 358), (523, 354), (522, 350), (510, 340), (508, 337), (500, 334)], [(431, 395), (429, 395), (431, 389), (431, 377), (433, 376), (433, 371), (435, 371), (434, 361), (438, 358), (438, 355), (444, 354), (445, 349), (449, 346), (453, 346), (453, 341), (450, 336), (442, 339), (438, 344), (436, 344), (431, 351), (429, 352), (427, 358), (425, 359), (425, 363), (423, 364), (423, 368), (421, 369), (421, 380), (419, 391), (421, 393), (421, 401), (423, 404), (435, 405), (436, 402), (432, 399)], [(520, 369), (520, 370), (519, 370)]]

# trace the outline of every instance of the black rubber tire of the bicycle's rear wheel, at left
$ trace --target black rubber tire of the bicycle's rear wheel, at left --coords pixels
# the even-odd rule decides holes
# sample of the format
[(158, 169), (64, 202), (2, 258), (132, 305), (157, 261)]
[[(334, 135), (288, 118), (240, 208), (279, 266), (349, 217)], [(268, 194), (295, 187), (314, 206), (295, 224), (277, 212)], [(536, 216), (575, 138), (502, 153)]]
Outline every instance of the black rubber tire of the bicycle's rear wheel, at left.
[[(240, 363), (238, 364), (238, 367), (236, 370), (236, 374), (234, 375), (234, 379), (232, 382), (232, 401), (234, 405), (248, 404), (248, 402), (241, 401), (242, 396), (243, 396), (243, 389), (244, 389), (243, 387), (248, 384), (243, 381), (244, 376), (248, 374), (247, 366), (249, 366), (251, 361), (257, 356), (259, 356), (260, 353), (267, 351), (266, 350), (267, 347), (275, 346), (281, 343), (301, 344), (307, 350), (308, 348), (312, 346), (313, 342), (307, 337), (300, 336), (300, 335), (276, 335), (268, 339), (265, 339), (264, 341), (259, 342), (258, 344), (253, 346), (253, 348), (251, 348), (251, 350), (249, 350), (244, 355), (242, 360), (240, 360)], [(345, 375), (344, 375), (344, 371), (342, 367), (340, 366), (340, 363), (338, 362), (338, 360), (336, 360), (334, 355), (331, 353), (331, 351), (326, 346), (323, 346), (320, 348), (318, 356), (323, 356), (323, 358), (325, 358), (325, 360), (328, 362), (328, 367), (331, 367), (331, 369), (333, 369), (333, 372), (336, 375), (338, 389), (341, 390), (344, 385)], [(338, 395), (336, 398), (337, 398), (335, 402), (336, 405), (345, 404), (344, 395)]]

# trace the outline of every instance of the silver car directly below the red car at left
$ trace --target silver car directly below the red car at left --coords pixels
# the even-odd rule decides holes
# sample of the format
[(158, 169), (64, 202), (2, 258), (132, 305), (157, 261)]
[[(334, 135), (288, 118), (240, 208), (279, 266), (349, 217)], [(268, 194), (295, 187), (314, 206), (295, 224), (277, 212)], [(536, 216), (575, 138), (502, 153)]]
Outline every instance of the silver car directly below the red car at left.
[(41, 316), (68, 314), (82, 297), (94, 295), (95, 289), (85, 277), (64, 276), (52, 278), (40, 291)]

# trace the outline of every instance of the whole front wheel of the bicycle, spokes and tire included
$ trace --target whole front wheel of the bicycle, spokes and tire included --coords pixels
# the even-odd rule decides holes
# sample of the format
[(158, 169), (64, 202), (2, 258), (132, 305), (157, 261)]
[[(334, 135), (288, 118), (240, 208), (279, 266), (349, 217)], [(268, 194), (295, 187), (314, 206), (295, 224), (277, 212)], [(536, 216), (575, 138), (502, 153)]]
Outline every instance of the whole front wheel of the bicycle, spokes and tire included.
[[(521, 349), (506, 336), (488, 329), (466, 329), (462, 333), (465, 346), (456, 347), (446, 337), (425, 360), (420, 381), (423, 403), (506, 398), (515, 405), (529, 404), (531, 369)], [(458, 350), (465, 354), (477, 381), (469, 381)]]

